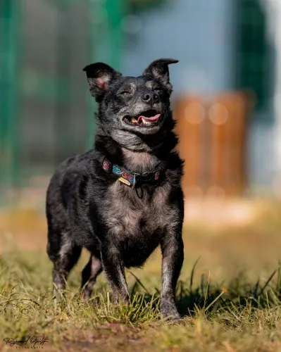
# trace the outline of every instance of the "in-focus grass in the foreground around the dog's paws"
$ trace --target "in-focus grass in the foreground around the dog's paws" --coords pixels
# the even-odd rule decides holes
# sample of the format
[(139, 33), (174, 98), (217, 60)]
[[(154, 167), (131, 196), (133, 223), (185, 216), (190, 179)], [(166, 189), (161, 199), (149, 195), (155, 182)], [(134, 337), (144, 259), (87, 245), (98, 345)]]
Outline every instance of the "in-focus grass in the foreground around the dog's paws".
[[(177, 303), (184, 318), (161, 320), (158, 287), (130, 285), (130, 305), (110, 301), (104, 279), (90, 301), (79, 294), (79, 270), (72, 275), (65, 298), (53, 301), (51, 265), (42, 256), (7, 253), (1, 258), (0, 335), (24, 339), (49, 337), (44, 348), (81, 345), (91, 351), (277, 351), (281, 348), (280, 270), (266, 282), (251, 284), (242, 275), (227, 288), (201, 275), (180, 282)], [(193, 275), (196, 276), (196, 268)], [(130, 277), (130, 273), (127, 275)], [(131, 277), (131, 282), (133, 282)], [(144, 280), (145, 281), (145, 280)], [(145, 287), (145, 284), (143, 284)], [(271, 348), (271, 349), (270, 349)]]

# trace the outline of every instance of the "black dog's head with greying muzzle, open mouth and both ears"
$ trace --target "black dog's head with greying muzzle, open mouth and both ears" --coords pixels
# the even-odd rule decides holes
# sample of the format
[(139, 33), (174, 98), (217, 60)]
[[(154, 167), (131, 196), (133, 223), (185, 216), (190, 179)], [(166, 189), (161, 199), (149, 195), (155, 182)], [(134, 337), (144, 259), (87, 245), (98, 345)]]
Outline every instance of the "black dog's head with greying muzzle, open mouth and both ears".
[[(99, 103), (99, 122), (109, 133), (149, 135), (161, 130), (170, 115), (172, 85), (168, 65), (177, 60), (159, 59), (139, 77), (123, 77), (105, 63), (84, 68), (89, 90)], [(118, 134), (121, 136), (121, 134)]]

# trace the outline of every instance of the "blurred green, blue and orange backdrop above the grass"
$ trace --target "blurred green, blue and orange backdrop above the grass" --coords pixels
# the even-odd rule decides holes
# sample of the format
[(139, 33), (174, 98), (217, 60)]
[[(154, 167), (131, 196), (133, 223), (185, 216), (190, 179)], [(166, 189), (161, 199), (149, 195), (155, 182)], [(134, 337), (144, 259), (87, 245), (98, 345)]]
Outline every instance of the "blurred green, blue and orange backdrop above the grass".
[(280, 43), (279, 0), (1, 0), (0, 206), (44, 209), (58, 163), (92, 146), (85, 65), (139, 75), (162, 57), (180, 61), (187, 201), (279, 197)]

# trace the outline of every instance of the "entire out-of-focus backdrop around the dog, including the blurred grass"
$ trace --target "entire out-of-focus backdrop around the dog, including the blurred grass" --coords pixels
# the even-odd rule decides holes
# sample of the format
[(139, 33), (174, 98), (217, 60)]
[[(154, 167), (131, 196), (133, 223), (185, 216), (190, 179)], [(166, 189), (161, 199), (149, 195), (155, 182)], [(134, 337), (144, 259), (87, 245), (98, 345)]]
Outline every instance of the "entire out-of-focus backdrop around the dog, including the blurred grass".
[[(253, 296), (256, 280), (280, 267), (281, 0), (0, 0), (4, 285), (19, 277), (18, 287), (35, 289), (35, 272), (39, 290), (51, 285), (46, 187), (63, 159), (94, 141), (82, 69), (104, 61), (140, 75), (156, 58), (180, 61), (170, 79), (185, 159), (182, 279), (200, 257), (200, 287), (234, 280)], [(76, 285), (88, 253), (81, 259)], [(159, 250), (149, 263), (135, 275), (159, 287)]]

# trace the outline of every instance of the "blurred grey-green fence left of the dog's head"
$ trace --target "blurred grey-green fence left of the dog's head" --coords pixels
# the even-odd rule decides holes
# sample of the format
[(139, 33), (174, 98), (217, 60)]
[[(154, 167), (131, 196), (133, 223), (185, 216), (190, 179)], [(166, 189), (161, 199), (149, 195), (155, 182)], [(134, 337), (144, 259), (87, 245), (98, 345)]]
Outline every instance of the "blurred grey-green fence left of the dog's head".
[[(92, 146), (82, 68), (120, 66), (125, 0), (0, 1), (0, 199)], [(36, 166), (35, 166), (36, 165)]]

